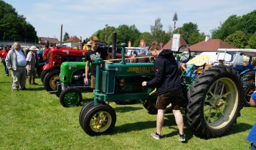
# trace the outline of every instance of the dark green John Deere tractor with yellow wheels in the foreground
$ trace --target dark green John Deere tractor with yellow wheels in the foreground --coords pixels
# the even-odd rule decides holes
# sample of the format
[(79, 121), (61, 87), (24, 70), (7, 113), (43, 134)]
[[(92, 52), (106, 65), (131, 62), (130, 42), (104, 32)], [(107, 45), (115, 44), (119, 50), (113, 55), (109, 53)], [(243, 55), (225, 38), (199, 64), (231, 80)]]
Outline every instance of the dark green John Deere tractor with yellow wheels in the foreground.
[[(184, 47), (184, 46), (182, 46)], [(187, 47), (176, 52), (176, 60), (189, 61)], [(122, 51), (124, 56), (124, 49)], [(105, 101), (141, 99), (143, 106), (154, 113), (156, 95), (142, 81), (153, 78), (154, 63), (125, 64), (110, 60), (95, 59), (96, 82), (93, 101), (80, 111), (82, 129), (90, 136), (110, 132), (116, 121), (115, 110)], [(240, 74), (232, 68), (213, 66), (197, 71), (203, 64), (191, 64), (190, 69), (181, 72), (183, 86), (183, 106), (189, 126), (198, 136), (207, 138), (224, 135), (240, 116), (242, 108), (242, 88)]]

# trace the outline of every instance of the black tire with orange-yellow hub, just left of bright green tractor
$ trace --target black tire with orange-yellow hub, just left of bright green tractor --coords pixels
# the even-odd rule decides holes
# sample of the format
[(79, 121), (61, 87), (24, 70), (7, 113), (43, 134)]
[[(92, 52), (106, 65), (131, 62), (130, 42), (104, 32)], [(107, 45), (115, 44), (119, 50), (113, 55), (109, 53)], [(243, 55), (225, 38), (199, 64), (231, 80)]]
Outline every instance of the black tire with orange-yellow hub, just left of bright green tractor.
[[(60, 81), (60, 70), (52, 70), (49, 71), (44, 76), (44, 87), (47, 91), (55, 91), (56, 86), (57, 86), (57, 81)], [(54, 93), (51, 93), (54, 94)]]

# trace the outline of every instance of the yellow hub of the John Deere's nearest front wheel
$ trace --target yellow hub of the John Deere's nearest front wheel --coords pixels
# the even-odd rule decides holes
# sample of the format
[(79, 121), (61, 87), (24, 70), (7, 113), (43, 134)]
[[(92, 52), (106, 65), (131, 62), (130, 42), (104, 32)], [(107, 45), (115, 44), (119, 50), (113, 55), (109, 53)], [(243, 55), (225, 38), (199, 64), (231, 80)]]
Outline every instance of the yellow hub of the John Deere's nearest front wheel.
[(90, 128), (95, 132), (103, 132), (110, 127), (111, 122), (112, 117), (107, 111), (99, 111), (90, 119)]

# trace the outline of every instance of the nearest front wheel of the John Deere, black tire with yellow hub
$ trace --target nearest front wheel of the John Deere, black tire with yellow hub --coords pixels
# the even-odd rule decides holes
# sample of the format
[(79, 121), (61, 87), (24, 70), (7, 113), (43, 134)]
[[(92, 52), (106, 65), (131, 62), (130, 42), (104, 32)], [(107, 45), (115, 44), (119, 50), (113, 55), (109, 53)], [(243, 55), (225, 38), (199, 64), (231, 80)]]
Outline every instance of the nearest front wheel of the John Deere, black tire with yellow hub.
[(109, 105), (98, 104), (91, 106), (82, 117), (82, 129), (90, 136), (110, 132), (116, 121), (115, 110)]

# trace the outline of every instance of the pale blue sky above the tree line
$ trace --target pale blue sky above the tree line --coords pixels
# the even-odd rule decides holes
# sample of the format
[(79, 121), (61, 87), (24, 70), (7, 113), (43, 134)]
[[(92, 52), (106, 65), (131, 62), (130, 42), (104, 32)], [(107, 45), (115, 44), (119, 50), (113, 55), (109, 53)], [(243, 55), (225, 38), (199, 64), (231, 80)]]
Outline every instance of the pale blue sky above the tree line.
[(193, 22), (199, 30), (210, 34), (230, 15), (242, 16), (256, 9), (256, 0), (4, 0), (14, 6), (34, 26), (37, 36), (60, 39), (63, 33), (85, 39), (105, 24), (135, 24), (141, 32), (150, 31), (157, 17), (163, 29), (173, 27), (172, 18), (178, 14), (176, 26)]

